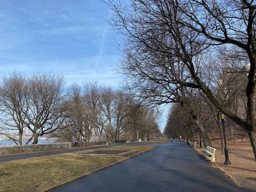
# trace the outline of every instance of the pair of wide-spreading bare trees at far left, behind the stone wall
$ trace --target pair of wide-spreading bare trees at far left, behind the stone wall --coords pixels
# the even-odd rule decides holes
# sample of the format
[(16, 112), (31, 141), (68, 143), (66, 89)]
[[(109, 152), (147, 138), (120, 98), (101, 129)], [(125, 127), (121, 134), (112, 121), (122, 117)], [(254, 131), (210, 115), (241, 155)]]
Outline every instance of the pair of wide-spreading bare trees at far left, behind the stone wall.
[[(66, 127), (62, 75), (36, 73), (24, 77), (13, 73), (2, 80), (0, 122), (14, 142), (22, 145), (25, 127), (33, 133), (26, 144), (33, 138), (36, 144), (38, 136)], [(18, 130), (19, 139), (11, 137), (14, 130)]]

